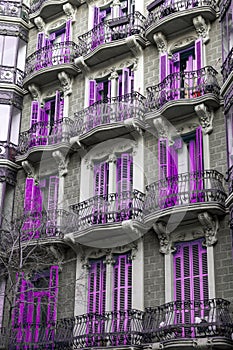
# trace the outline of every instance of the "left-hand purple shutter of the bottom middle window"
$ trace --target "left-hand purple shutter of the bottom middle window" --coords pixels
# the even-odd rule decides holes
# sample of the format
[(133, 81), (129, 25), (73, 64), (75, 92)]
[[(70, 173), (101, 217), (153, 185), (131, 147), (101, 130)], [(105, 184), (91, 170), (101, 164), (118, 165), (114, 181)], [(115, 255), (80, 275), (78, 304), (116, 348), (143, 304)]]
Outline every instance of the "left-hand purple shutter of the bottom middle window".
[(88, 313), (104, 313), (106, 300), (106, 265), (92, 261), (88, 276)]

